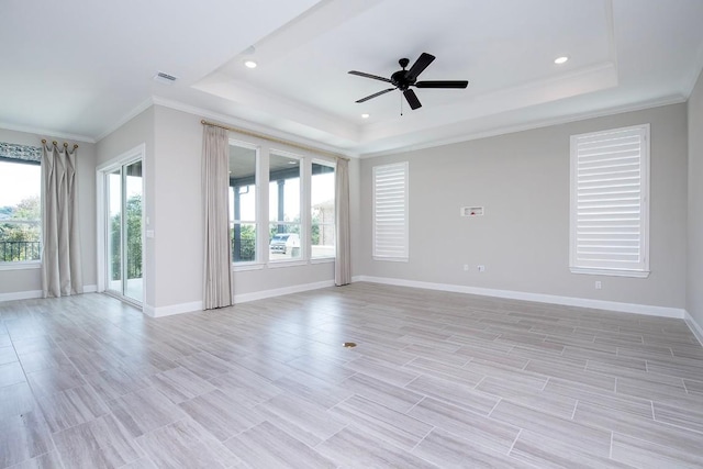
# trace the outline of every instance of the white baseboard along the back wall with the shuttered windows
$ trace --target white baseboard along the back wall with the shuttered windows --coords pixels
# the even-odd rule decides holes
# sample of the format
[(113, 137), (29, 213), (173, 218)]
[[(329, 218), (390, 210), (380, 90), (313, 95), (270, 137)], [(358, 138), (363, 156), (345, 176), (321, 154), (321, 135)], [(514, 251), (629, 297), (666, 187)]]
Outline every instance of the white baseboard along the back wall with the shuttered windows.
[(355, 277), (354, 281), (393, 284), (399, 287), (424, 288), (427, 290), (451, 291), (456, 293), (479, 294), (482, 297), (506, 298), (511, 300), (535, 301), (539, 303), (562, 304), (566, 306), (592, 308), (598, 310), (620, 311), (623, 313), (646, 314), (649, 316), (683, 319), (685, 311), (678, 308), (652, 306), (649, 304), (620, 303), (616, 301), (589, 300), (583, 298), (558, 297), (554, 294), (528, 293), (513, 290), (494, 290), (489, 288), (465, 287), (458, 284), (431, 283), (415, 280), (402, 280), (386, 277)]

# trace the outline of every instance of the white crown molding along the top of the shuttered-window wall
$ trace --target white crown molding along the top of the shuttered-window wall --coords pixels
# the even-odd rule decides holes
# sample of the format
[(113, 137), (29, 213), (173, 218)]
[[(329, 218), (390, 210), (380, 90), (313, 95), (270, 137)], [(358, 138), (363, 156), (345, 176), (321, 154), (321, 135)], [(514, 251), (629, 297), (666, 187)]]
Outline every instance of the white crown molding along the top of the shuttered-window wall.
[(427, 149), (427, 148), (435, 148), (438, 146), (444, 146), (444, 145), (451, 145), (455, 143), (461, 143), (461, 142), (469, 142), (469, 141), (475, 141), (475, 139), (479, 139), (479, 138), (489, 138), (489, 137), (494, 137), (494, 136), (499, 136), (499, 135), (506, 135), (506, 134), (513, 134), (516, 132), (525, 132), (525, 131), (533, 131), (536, 129), (544, 129), (544, 127), (550, 127), (553, 125), (561, 125), (561, 124), (568, 124), (571, 122), (579, 122), (579, 121), (585, 121), (589, 119), (598, 119), (598, 118), (605, 118), (607, 115), (615, 115), (615, 114), (623, 114), (625, 112), (636, 112), (636, 111), (641, 111), (645, 109), (654, 109), (654, 108), (661, 108), (662, 105), (670, 105), (670, 104), (680, 104), (682, 102), (687, 102), (687, 98), (679, 96), (679, 97), (669, 97), (669, 98), (663, 98), (661, 100), (656, 100), (656, 101), (648, 101), (646, 103), (639, 103), (639, 104), (635, 104), (635, 105), (623, 105), (623, 107), (617, 107), (617, 108), (611, 108), (609, 110), (604, 110), (604, 111), (595, 111), (595, 112), (588, 112), (588, 113), (583, 113), (583, 114), (578, 114), (578, 115), (568, 115), (568, 116), (563, 116), (563, 118), (555, 118), (555, 119), (547, 119), (547, 120), (543, 120), (543, 121), (535, 121), (535, 122), (531, 122), (524, 125), (509, 125), (505, 127), (498, 127), (498, 129), (492, 129), (489, 131), (483, 131), (483, 132), (477, 132), (477, 133), (471, 133), (471, 134), (465, 134), (461, 136), (455, 136), (455, 137), (448, 137), (448, 138), (440, 138), (440, 139), (436, 139), (433, 142), (426, 142), (426, 143), (421, 143), (421, 144), (415, 144), (415, 145), (409, 145), (405, 147), (399, 147), (395, 149), (388, 149), (388, 150), (383, 150), (383, 152), (369, 152), (369, 153), (362, 153), (359, 158), (360, 159), (370, 159), (370, 158), (377, 158), (380, 156), (388, 156), (388, 155), (398, 155), (400, 153), (408, 153), (408, 152), (415, 152), (415, 150), (420, 150), (420, 149)]

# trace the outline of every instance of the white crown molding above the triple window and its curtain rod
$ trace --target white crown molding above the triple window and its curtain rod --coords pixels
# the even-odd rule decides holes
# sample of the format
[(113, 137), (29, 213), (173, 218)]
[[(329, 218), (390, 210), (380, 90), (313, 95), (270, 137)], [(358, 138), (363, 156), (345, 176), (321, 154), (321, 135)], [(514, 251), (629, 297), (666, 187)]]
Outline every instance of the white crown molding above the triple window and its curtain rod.
[(217, 121), (217, 122), (220, 122), (222, 124), (232, 125), (233, 127), (242, 127), (242, 129), (247, 130), (247, 131), (268, 134), (268, 135), (277, 137), (277, 138), (288, 139), (288, 141), (293, 142), (293, 143), (298, 143), (298, 144), (305, 145), (305, 146), (312, 146), (312, 147), (315, 147), (315, 148), (323, 149), (325, 152), (338, 153), (338, 154), (341, 154), (343, 156), (347, 156), (349, 158), (358, 158), (359, 157), (358, 153), (352, 153), (352, 152), (349, 152), (349, 150), (347, 150), (345, 148), (339, 148), (339, 147), (335, 147), (335, 146), (332, 146), (332, 145), (326, 145), (326, 144), (323, 144), (321, 142), (314, 141), (314, 139), (301, 137), (300, 135), (291, 134), (291, 133), (288, 133), (288, 132), (281, 132), (279, 130), (276, 130), (274, 127), (269, 127), (267, 125), (260, 125), (260, 124), (256, 124), (256, 123), (250, 122), (250, 121), (245, 121), (244, 119), (237, 119), (237, 118), (233, 118), (231, 115), (208, 111), (207, 109), (197, 108), (194, 105), (186, 104), (186, 103), (182, 103), (182, 102), (179, 102), (179, 101), (172, 101), (172, 100), (169, 100), (169, 99), (165, 99), (165, 98), (160, 98), (160, 97), (156, 97), (155, 96), (155, 97), (152, 97), (152, 102), (154, 104), (156, 104), (156, 105), (161, 105), (164, 108), (169, 108), (169, 109), (172, 109), (172, 110), (176, 110), (176, 111), (186, 112), (188, 114), (198, 115), (198, 116), (204, 118), (207, 120)]

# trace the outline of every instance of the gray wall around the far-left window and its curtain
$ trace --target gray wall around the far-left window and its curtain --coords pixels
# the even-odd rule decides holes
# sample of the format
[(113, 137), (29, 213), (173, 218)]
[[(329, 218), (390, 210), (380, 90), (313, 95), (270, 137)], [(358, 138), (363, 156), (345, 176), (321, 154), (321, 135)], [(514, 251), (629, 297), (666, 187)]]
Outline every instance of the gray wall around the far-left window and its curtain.
[[(64, 138), (0, 129), (0, 142), (42, 146), (42, 138), (62, 144), (77, 143), (78, 148), (78, 222), (82, 256), (83, 286), (94, 287), (96, 276), (96, 145)], [(0, 270), (0, 295), (42, 290), (40, 269)]]

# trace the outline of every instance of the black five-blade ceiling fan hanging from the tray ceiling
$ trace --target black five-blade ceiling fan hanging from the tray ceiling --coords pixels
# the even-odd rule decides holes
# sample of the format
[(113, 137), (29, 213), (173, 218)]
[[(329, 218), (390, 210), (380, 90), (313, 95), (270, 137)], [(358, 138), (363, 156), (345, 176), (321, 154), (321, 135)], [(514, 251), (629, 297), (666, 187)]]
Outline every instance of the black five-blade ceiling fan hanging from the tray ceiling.
[(402, 70), (398, 70), (391, 78), (379, 77), (378, 75), (365, 74), (364, 71), (350, 70), (350, 75), (358, 75), (359, 77), (371, 78), (373, 80), (386, 81), (394, 86), (394, 88), (388, 88), (383, 91), (379, 91), (377, 93), (367, 96), (366, 98), (361, 98), (356, 102), (365, 102), (381, 94), (386, 94), (389, 91), (393, 91), (399, 89), (403, 92), (408, 104), (410, 104), (410, 109), (422, 108), (415, 91), (411, 89), (411, 87), (415, 88), (466, 88), (469, 82), (466, 80), (427, 80), (427, 81), (417, 81), (417, 76), (423, 72), (425, 68), (435, 59), (435, 56), (432, 54), (427, 54), (423, 52), (422, 55), (415, 60), (410, 70), (405, 70), (410, 60), (406, 58), (401, 58), (398, 60)]

